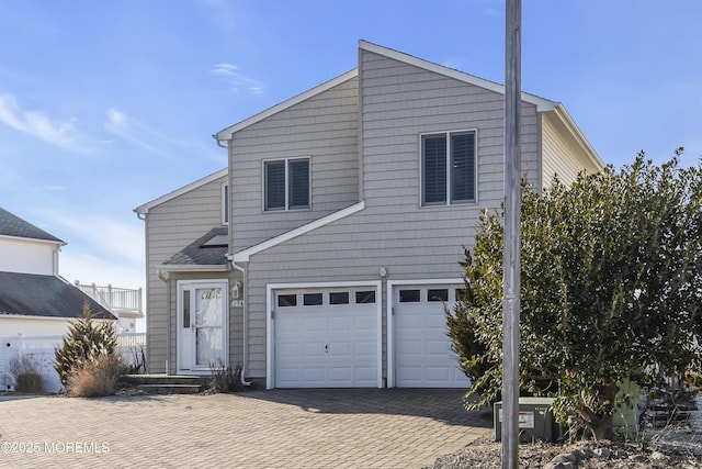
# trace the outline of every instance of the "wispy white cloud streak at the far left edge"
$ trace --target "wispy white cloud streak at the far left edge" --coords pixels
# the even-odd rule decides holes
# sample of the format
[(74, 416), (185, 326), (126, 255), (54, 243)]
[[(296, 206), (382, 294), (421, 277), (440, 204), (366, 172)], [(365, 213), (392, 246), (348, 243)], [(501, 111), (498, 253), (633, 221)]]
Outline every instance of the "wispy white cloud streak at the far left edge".
[(53, 145), (72, 150), (84, 150), (80, 147), (80, 135), (75, 120), (52, 120), (42, 111), (26, 111), (20, 108), (12, 94), (0, 94), (0, 122)]

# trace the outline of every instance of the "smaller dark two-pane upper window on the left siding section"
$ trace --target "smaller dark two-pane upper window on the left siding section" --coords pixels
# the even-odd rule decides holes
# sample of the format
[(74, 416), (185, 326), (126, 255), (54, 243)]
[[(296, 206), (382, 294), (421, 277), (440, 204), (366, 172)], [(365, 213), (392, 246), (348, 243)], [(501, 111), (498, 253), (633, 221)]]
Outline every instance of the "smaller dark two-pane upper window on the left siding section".
[(263, 164), (264, 210), (309, 209), (309, 158)]

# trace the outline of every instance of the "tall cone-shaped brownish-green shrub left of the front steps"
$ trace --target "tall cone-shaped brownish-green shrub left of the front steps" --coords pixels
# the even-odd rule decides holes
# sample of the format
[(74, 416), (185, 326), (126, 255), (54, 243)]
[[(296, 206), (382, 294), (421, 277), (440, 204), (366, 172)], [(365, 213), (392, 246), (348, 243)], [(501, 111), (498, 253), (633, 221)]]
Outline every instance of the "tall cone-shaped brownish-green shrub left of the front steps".
[[(77, 376), (80, 375), (81, 380), (84, 381), (86, 372), (90, 370), (99, 370), (101, 375), (105, 375), (105, 362), (121, 362), (116, 346), (117, 337), (111, 322), (95, 323), (90, 303), (83, 302), (81, 317), (70, 324), (63, 346), (54, 350), (56, 358), (54, 368), (58, 372), (61, 384), (71, 393)], [(115, 368), (114, 373), (118, 375), (118, 367), (110, 368)], [(113, 380), (112, 377), (109, 379)], [(102, 392), (110, 393), (110, 387), (100, 387), (100, 389), (106, 389)], [(112, 392), (114, 392), (114, 384)]]

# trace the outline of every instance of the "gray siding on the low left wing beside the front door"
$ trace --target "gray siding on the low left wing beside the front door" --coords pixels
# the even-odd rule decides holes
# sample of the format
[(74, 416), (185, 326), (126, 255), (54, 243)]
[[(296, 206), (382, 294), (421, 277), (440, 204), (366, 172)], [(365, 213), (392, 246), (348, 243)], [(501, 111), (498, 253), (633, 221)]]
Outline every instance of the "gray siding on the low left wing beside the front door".
[[(222, 185), (226, 177), (168, 200), (146, 215), (148, 371), (176, 366), (176, 287), (158, 278), (157, 266), (213, 227), (222, 226)], [(220, 278), (226, 276), (222, 273)], [(170, 295), (170, 297), (169, 297)], [(168, 335), (170, 334), (170, 339)], [(167, 347), (170, 346), (170, 350)]]

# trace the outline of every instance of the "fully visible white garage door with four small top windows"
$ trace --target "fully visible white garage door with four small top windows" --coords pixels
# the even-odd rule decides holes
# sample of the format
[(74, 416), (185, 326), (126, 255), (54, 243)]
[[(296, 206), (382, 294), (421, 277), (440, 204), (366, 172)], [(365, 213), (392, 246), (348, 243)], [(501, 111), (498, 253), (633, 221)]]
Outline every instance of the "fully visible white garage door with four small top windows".
[(276, 388), (378, 386), (375, 288), (274, 292)]

